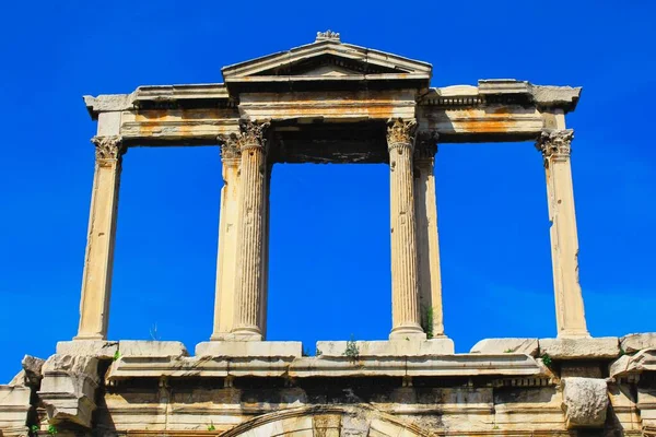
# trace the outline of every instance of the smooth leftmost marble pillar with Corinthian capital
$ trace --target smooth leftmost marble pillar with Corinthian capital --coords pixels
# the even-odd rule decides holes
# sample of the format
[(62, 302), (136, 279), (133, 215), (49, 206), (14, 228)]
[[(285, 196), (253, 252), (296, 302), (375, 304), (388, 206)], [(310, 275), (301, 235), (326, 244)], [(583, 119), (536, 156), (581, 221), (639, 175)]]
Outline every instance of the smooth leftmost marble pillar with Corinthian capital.
[(73, 340), (107, 339), (118, 189), (121, 157), (126, 152), (119, 135), (94, 137), (92, 142), (95, 144), (95, 172), (82, 276), (80, 326)]

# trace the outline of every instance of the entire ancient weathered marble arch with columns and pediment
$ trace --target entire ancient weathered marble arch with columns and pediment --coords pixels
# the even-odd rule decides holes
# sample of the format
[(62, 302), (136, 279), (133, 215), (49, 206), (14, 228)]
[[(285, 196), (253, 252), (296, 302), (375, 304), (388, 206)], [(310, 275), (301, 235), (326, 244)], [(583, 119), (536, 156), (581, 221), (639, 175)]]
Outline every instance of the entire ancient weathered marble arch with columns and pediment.
[[(0, 386), (0, 437), (656, 435), (656, 334), (586, 328), (565, 125), (581, 88), (431, 87), (431, 64), (330, 31), (222, 72), (221, 84), (84, 97), (97, 134), (79, 330)], [(455, 354), (442, 318), (437, 145), (500, 141), (539, 152), (558, 332)], [(121, 162), (130, 147), (167, 145), (220, 145), (223, 163), (213, 332), (194, 356), (179, 342), (107, 340)], [(389, 165), (388, 340), (318, 342), (317, 356), (265, 341), (276, 163)]]

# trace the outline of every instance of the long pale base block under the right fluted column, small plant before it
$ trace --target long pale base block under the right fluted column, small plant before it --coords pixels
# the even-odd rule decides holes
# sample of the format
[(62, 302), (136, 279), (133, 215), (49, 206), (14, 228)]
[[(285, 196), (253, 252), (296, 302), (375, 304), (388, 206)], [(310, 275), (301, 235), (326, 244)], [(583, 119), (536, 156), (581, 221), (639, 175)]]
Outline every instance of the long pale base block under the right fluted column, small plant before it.
[[(319, 341), (317, 354), (321, 356), (344, 356), (348, 341)], [(360, 356), (430, 356), (453, 355), (454, 341), (452, 339), (432, 340), (390, 340), (390, 341), (356, 341)]]

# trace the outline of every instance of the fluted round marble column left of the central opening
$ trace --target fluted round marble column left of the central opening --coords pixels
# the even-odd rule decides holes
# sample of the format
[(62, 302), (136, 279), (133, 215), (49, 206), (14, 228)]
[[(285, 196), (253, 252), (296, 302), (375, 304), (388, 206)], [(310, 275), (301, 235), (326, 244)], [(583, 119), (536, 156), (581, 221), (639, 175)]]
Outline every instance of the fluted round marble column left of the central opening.
[(268, 122), (246, 121), (241, 126), (242, 153), (239, 212), (237, 221), (237, 285), (232, 334), (235, 340), (262, 340), (261, 306), (265, 305), (262, 274), (267, 240), (267, 150)]

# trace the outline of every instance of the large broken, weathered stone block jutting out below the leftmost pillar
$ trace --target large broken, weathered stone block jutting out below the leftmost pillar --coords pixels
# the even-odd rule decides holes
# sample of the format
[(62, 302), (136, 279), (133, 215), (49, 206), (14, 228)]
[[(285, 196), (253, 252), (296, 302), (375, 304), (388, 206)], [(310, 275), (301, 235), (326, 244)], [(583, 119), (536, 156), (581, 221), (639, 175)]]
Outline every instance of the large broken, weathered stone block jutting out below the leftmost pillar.
[(91, 427), (97, 371), (98, 359), (89, 355), (52, 355), (46, 361), (38, 397), (52, 424), (70, 422)]

